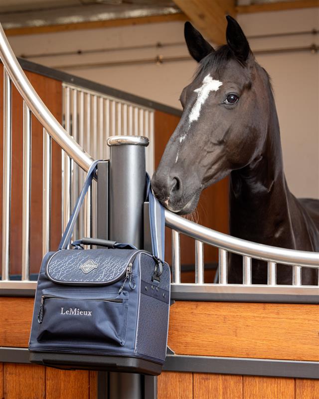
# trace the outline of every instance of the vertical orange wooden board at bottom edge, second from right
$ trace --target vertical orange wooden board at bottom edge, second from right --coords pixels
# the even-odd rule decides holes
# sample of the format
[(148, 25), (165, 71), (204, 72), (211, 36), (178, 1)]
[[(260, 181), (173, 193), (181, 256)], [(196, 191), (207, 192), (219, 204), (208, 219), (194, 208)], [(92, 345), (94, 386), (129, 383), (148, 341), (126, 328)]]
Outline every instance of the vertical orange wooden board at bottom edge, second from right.
[(243, 399), (295, 399), (293, 378), (244, 376), (243, 383)]

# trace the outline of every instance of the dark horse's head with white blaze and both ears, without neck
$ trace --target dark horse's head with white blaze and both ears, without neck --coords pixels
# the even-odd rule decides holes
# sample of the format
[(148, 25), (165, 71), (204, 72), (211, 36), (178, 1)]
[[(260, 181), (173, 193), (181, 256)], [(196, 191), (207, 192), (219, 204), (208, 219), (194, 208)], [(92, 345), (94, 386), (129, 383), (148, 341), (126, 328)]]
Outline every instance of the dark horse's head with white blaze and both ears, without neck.
[(227, 44), (216, 50), (185, 23), (198, 69), (181, 92), (183, 113), (152, 179), (160, 202), (178, 214), (190, 213), (206, 187), (258, 160), (266, 140), (268, 75), (236, 20), (227, 21)]

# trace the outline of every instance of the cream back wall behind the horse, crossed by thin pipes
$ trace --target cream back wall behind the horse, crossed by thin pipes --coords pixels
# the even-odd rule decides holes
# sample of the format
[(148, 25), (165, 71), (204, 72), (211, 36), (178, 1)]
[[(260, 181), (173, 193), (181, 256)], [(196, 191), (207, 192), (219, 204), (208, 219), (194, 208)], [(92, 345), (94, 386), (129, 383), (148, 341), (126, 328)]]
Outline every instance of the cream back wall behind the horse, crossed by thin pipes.
[[(319, 29), (319, 8), (242, 14), (238, 21), (249, 36)], [(121, 48), (142, 44), (183, 42), (183, 23), (149, 25), (9, 37), (15, 54), (41, 54), (92, 48)], [(318, 35), (300, 34), (250, 39), (252, 49), (319, 44)], [(112, 51), (100, 54), (34, 58), (58, 65), (187, 55), (184, 44), (163, 48)], [(319, 53), (292, 52), (258, 55), (272, 77), (281, 125), (285, 171), (298, 197), (319, 198)], [(180, 108), (182, 88), (191, 80), (196, 63), (179, 61), (104, 68), (68, 69), (69, 73)]]

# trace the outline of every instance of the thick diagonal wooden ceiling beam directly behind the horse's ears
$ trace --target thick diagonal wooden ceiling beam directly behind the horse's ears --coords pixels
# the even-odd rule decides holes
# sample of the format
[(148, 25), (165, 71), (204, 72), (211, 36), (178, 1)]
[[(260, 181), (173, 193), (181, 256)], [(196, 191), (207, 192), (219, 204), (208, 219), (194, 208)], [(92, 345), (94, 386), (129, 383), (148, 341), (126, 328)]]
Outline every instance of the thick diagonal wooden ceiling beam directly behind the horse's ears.
[(227, 14), (236, 16), (235, 0), (174, 0), (197, 29), (215, 44), (226, 42)]

